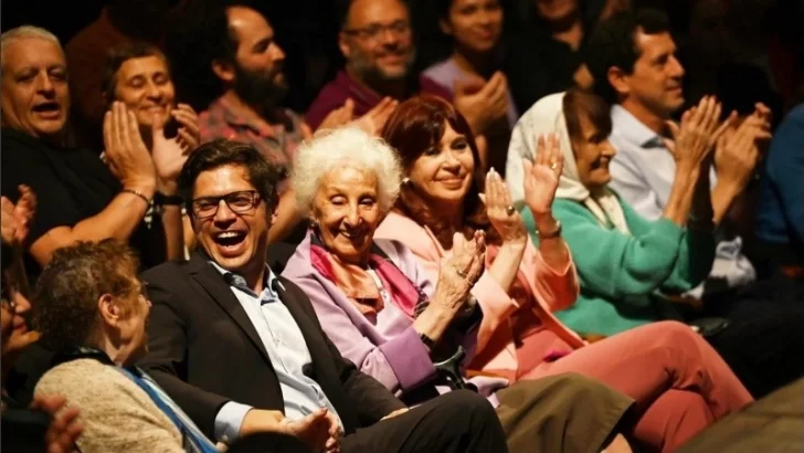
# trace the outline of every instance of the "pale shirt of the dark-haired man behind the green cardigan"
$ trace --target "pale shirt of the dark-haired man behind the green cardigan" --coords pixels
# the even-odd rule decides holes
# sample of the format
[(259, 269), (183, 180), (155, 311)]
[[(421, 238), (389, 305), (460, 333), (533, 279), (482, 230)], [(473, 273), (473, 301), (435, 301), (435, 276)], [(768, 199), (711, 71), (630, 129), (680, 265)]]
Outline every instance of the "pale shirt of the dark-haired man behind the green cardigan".
[[(609, 186), (645, 219), (660, 218), (676, 176), (676, 161), (662, 137), (628, 110), (615, 105), (612, 107), (612, 135), (609, 139), (617, 150), (609, 166), (612, 173)], [(713, 168), (710, 169), (709, 181), (713, 188), (717, 182)], [(721, 238), (709, 277), (688, 294), (700, 298), (705, 291), (734, 287), (755, 278), (751, 262), (742, 254), (742, 240)]]

